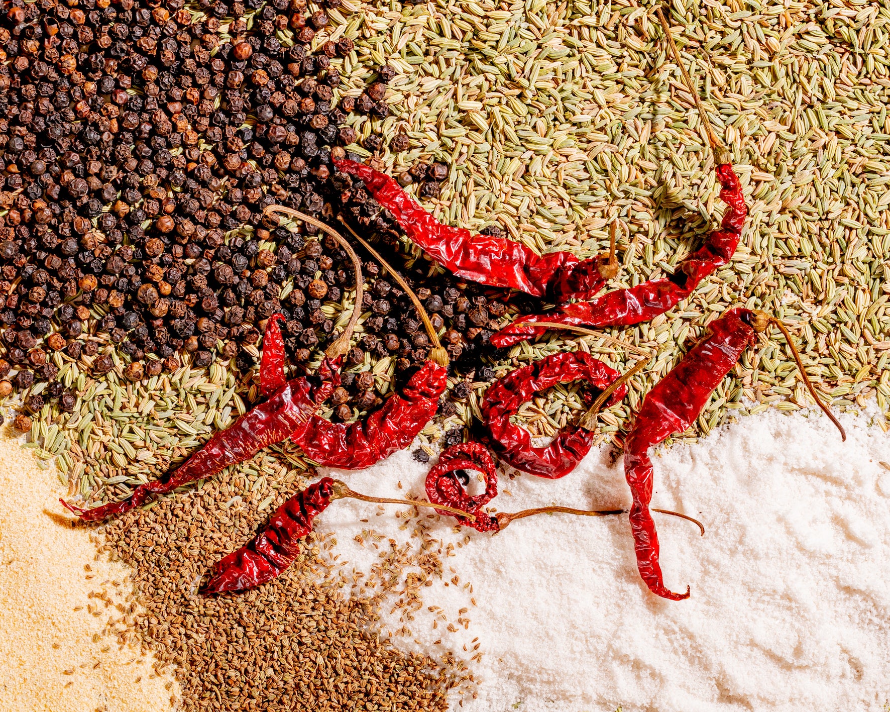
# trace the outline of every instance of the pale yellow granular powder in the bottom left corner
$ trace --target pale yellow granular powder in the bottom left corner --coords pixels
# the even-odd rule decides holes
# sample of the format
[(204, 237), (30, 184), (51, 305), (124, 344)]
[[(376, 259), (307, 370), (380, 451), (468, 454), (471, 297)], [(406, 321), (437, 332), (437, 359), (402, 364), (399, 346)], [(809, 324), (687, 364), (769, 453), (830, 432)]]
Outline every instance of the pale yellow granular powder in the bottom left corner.
[[(101, 635), (120, 618), (128, 569), (93, 560), (90, 531), (71, 526), (53, 467), (0, 434), (0, 700), (4, 712), (167, 712), (179, 699), (153, 659)], [(86, 570), (88, 566), (90, 570)], [(90, 578), (87, 578), (90, 577)], [(114, 586), (114, 582), (118, 586)], [(75, 609), (79, 610), (75, 610)], [(98, 615), (93, 615), (97, 611)], [(97, 642), (93, 636), (99, 635)], [(102, 649), (107, 651), (102, 652)], [(141, 678), (136, 682), (137, 678)], [(166, 689), (166, 685), (171, 685)]]

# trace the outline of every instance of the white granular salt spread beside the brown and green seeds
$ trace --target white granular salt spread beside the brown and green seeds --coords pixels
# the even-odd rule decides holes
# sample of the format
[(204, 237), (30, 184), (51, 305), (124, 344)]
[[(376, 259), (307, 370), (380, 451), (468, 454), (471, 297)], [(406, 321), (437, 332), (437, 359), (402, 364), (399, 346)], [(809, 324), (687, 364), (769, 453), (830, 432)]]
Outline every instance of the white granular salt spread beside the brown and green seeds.
[[(702, 538), (690, 522), (654, 515), (666, 583), (690, 584), (688, 601), (661, 600), (643, 585), (626, 514), (538, 516), (496, 536), (452, 533), (442, 518), (430, 533), (454, 543), (454, 555), (446, 577), (422, 589), (425, 607), (397, 644), (464, 659), (481, 652), (478, 697), (462, 700), (465, 712), (884, 709), (890, 468), (880, 461), (890, 462), (890, 440), (869, 417), (842, 420), (845, 443), (825, 417), (772, 412), (654, 458), (653, 506), (707, 527)], [(357, 490), (392, 497), (422, 493), (428, 469), (402, 452), (346, 476)], [(607, 451), (563, 480), (503, 478), (501, 490), (493, 504), (508, 512), (630, 499)], [(367, 505), (344, 502), (323, 526), (336, 530), (341, 558), (367, 571), (378, 552), (352, 537), (373, 528), (382, 548), (386, 538), (409, 541), (396, 509), (365, 524)], [(470, 623), (457, 627), (464, 608)]]

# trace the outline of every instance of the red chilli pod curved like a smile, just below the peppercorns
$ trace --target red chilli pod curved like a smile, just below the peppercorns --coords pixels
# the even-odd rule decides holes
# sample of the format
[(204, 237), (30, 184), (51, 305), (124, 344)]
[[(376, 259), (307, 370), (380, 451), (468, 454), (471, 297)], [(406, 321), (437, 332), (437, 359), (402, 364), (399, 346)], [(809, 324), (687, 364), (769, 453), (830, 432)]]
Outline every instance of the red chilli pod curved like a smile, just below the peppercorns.
[(306, 457), (326, 467), (361, 470), (407, 448), (439, 407), (446, 369), (425, 361), (401, 394), (386, 399), (364, 421), (331, 423), (312, 416), (293, 440)]

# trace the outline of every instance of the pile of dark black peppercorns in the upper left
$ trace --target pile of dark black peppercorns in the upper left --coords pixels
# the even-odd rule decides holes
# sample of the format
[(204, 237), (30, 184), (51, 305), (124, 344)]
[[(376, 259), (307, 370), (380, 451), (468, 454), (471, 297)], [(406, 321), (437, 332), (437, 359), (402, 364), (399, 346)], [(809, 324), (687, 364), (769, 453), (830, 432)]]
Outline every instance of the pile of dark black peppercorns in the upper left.
[[(48, 381), (44, 395), (62, 409), (74, 398), (54, 380), (52, 352), (94, 357), (101, 374), (114, 366), (107, 346), (115, 344), (129, 357), (125, 376), (139, 380), (178, 368), (183, 351), (197, 366), (234, 358), (249, 368), (254, 358), (243, 347), (256, 344), (274, 312), (287, 317), (294, 360), (336, 336), (321, 304), (352, 287), (351, 263), (335, 243), (311, 239), (312, 227), (279, 227), (266, 206), (330, 223), (344, 214), (357, 230), (397, 242), (388, 214), (331, 162), (356, 140), (349, 112), (388, 115), (394, 71), (384, 66), (360, 97), (337, 103), (340, 77), (330, 61), (351, 52), (352, 41), (311, 53), (325, 12), (307, 14), (305, 0), (198, 7), (206, 14), (194, 22), (183, 0), (3, 4), (0, 378), (15, 368), (19, 389)], [(281, 44), (279, 30), (295, 44)], [(364, 145), (376, 151), (383, 142), (372, 134)], [(390, 147), (407, 149), (407, 136), (392, 137)], [(400, 180), (422, 182), (421, 195), (434, 197), (447, 174), (441, 164), (418, 165)], [(380, 265), (363, 271), (371, 317), (348, 360), (396, 354), (403, 370), (425, 359), (429, 344), (407, 295)], [(406, 277), (448, 329), (451, 358), (469, 364), (506, 307), (480, 288), (457, 279), (427, 284), (423, 274)], [(94, 306), (105, 312), (99, 320)], [(379, 402), (359, 381), (344, 383), (337, 406)], [(32, 399), (31, 409), (43, 405), (43, 396)]]

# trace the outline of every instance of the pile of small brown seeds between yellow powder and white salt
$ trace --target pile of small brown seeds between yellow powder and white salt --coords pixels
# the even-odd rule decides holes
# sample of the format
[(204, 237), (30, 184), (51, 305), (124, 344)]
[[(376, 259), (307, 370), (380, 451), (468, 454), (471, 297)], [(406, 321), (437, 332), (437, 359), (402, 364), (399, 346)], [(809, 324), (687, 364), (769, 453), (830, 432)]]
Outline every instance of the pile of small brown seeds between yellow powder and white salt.
[[(464, 666), (378, 639), (376, 602), (345, 600), (346, 581), (326, 557), (333, 543), (319, 535), (270, 584), (243, 595), (195, 595), (208, 566), (242, 545), (270, 511), (258, 511), (264, 493), (248, 491), (243, 479), (216, 478), (104, 530), (101, 548), (134, 567), (145, 609), (118, 622), (129, 628), (123, 638), (154, 651), (156, 669), (175, 667), (182, 709), (446, 709)], [(295, 492), (295, 480), (289, 473), (271, 482), (273, 507)]]

